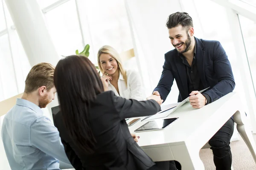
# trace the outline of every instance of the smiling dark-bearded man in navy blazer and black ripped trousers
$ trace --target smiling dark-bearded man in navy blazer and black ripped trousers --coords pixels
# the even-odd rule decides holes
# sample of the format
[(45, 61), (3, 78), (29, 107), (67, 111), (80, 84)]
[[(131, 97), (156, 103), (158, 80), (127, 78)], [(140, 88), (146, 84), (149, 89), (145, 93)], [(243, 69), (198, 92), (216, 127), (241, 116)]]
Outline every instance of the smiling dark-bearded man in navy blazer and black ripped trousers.
[[(165, 54), (163, 72), (152, 97), (166, 100), (175, 79), (178, 102), (189, 96), (193, 108), (202, 108), (235, 88), (230, 61), (221, 43), (194, 37), (192, 18), (186, 12), (169, 15), (166, 26), (175, 49)], [(204, 93), (199, 91), (209, 88)], [(230, 139), (234, 121), (230, 118), (209, 140), (216, 170), (230, 170)]]

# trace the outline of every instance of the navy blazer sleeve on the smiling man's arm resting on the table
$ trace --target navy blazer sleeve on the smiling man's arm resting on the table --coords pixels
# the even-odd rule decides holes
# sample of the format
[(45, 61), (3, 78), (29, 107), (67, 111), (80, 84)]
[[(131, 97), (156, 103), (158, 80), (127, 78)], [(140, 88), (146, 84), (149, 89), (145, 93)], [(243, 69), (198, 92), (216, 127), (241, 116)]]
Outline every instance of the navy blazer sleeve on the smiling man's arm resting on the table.
[(211, 102), (221, 98), (222, 96), (232, 92), (235, 88), (235, 80), (227, 58), (227, 54), (221, 46), (220, 42), (215, 42), (212, 55), (213, 69), (218, 78), (218, 83), (210, 90), (204, 92), (209, 95)]

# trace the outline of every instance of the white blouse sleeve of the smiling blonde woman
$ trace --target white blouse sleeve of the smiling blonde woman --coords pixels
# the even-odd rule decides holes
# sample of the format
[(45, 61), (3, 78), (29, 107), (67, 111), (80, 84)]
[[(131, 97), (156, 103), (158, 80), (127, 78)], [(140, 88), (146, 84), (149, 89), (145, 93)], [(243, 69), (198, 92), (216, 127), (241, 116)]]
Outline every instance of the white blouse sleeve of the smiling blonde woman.
[(131, 71), (129, 75), (130, 98), (136, 100), (145, 100), (140, 75), (136, 71)]

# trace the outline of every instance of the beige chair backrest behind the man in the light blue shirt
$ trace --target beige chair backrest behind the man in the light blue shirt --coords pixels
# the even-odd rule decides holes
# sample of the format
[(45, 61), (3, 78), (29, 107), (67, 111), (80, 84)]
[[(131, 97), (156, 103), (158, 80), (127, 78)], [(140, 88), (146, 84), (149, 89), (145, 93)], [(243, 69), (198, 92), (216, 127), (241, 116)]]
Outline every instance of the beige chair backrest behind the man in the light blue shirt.
[(5, 115), (16, 103), (16, 99), (20, 98), (23, 93), (13, 96), (9, 99), (5, 99), (0, 102), (0, 116)]

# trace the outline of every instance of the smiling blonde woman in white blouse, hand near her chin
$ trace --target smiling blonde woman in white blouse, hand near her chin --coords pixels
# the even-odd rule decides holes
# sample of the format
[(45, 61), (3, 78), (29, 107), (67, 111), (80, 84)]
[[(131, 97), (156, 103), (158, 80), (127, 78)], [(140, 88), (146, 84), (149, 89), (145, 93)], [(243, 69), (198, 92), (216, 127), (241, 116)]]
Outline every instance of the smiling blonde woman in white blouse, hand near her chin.
[(104, 45), (98, 51), (98, 65), (104, 91), (113, 91), (126, 99), (145, 100), (140, 76), (136, 71), (125, 70), (117, 51)]

